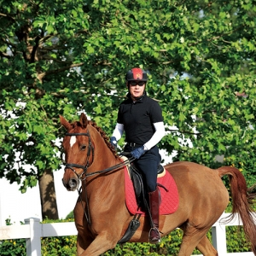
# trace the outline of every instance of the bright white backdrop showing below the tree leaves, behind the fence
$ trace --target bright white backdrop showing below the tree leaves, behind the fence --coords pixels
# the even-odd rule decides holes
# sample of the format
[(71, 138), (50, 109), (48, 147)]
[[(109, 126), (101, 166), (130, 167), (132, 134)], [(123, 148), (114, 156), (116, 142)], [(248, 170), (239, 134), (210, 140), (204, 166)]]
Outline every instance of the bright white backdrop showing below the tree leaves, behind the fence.
[[(160, 150), (165, 164), (172, 162), (172, 156), (167, 156), (165, 151)], [(59, 218), (66, 218), (73, 211), (78, 199), (78, 191), (67, 191), (62, 184), (64, 168), (54, 172), (55, 193)], [(10, 184), (5, 178), (0, 178), (0, 226), (10, 219), (12, 224), (24, 223), (26, 218), (39, 218), (42, 220), (41, 204), (38, 185), (28, 188), (25, 194), (21, 194), (17, 183)]]

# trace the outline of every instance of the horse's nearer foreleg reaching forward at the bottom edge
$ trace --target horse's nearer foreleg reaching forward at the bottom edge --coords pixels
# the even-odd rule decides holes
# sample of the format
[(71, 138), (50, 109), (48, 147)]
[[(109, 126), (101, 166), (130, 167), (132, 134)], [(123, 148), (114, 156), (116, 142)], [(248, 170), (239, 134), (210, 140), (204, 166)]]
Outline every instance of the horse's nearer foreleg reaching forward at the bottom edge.
[(117, 241), (110, 239), (108, 232), (102, 233), (96, 236), (90, 243), (90, 246), (87, 247), (83, 253), (79, 254), (79, 256), (98, 256), (112, 249), (116, 244)]

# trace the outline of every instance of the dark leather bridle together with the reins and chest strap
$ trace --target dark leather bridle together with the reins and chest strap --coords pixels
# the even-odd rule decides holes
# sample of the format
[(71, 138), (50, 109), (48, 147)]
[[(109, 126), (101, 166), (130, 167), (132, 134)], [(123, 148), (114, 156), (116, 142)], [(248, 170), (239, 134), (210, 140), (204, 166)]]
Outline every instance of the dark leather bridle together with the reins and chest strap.
[[(102, 174), (102, 173), (106, 173), (106, 172), (112, 172), (112, 171), (115, 171), (115, 170), (120, 170), (122, 167), (125, 167), (127, 164), (136, 160), (135, 158), (131, 157), (130, 159), (127, 159), (127, 160), (125, 160), (125, 161), (123, 161), (123, 162), (121, 162), (121, 163), (119, 163), (115, 166), (111, 166), (111, 167), (109, 167), (107, 169), (104, 169), (102, 171), (86, 173), (87, 169), (92, 165), (93, 160), (94, 160), (94, 147), (93, 147), (93, 145), (90, 141), (90, 132), (88, 131), (88, 132), (81, 132), (81, 133), (75, 133), (75, 132), (74, 133), (66, 133), (66, 136), (87, 136), (87, 137), (89, 137), (89, 148), (88, 148), (88, 151), (87, 151), (86, 164), (84, 166), (81, 166), (81, 165), (77, 165), (77, 164), (73, 164), (73, 163), (67, 163), (66, 166), (65, 166), (65, 172), (66, 172), (66, 169), (71, 169), (77, 175), (77, 177), (79, 178), (80, 181), (85, 182), (86, 177), (94, 176), (96, 174)], [(92, 152), (92, 161), (91, 161), (91, 163), (89, 162), (90, 152)], [(123, 155), (125, 155), (125, 154), (123, 154)], [(82, 172), (81, 174), (78, 174), (73, 168), (83, 169), (84, 172)], [(86, 186), (85, 186), (85, 189), (84, 189), (85, 191), (84, 192), (85, 192), (85, 201), (86, 201), (86, 205), (87, 205), (87, 212), (85, 211), (85, 207), (84, 207), (84, 204), (83, 204), (83, 201), (82, 201), (82, 198), (81, 198), (81, 190), (82, 190), (82, 186), (80, 187), (80, 189), (78, 189), (79, 198), (80, 198), (82, 207), (84, 209), (84, 216), (87, 220), (87, 223), (90, 225), (91, 224), (90, 209), (89, 209)]]

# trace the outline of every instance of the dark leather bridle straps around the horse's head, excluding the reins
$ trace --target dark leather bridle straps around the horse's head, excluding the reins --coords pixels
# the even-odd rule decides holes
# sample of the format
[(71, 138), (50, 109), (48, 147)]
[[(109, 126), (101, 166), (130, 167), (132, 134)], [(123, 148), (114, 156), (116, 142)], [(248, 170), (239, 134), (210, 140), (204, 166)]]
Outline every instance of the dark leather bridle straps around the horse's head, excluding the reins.
[[(93, 160), (94, 160), (94, 148), (93, 148), (93, 145), (92, 145), (91, 140), (90, 140), (90, 133), (89, 133), (89, 131), (88, 132), (81, 132), (81, 133), (75, 133), (74, 132), (74, 133), (66, 133), (66, 136), (87, 136), (87, 137), (89, 137), (86, 164), (84, 166), (81, 166), (81, 165), (77, 165), (77, 164), (67, 163), (66, 166), (65, 166), (65, 172), (66, 172), (66, 169), (71, 169), (77, 175), (79, 180), (84, 180), (86, 176), (83, 178), (83, 175), (86, 174), (87, 169), (92, 165)], [(90, 152), (92, 153), (91, 163), (89, 162)], [(73, 168), (83, 169), (84, 172), (82, 172), (81, 174), (78, 174)]]

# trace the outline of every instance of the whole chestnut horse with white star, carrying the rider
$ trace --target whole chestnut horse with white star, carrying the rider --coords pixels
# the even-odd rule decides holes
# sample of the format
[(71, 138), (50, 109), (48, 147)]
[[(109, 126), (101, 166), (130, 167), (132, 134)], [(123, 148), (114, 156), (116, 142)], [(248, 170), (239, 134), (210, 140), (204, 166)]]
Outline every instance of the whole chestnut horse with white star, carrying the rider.
[[(116, 246), (125, 234), (133, 216), (125, 206), (125, 174), (122, 160), (108, 142), (105, 132), (82, 113), (79, 121), (69, 123), (60, 116), (67, 134), (63, 139), (67, 162), (63, 184), (67, 190), (81, 193), (74, 208), (78, 230), (78, 255), (100, 255)], [(112, 166), (116, 166), (112, 168)], [(229, 203), (229, 193), (221, 177), (230, 177), (233, 212), (243, 223), (247, 240), (256, 254), (256, 227), (253, 222), (253, 195), (247, 190), (245, 178), (235, 167), (212, 170), (192, 162), (174, 162), (165, 166), (177, 183), (179, 207), (169, 215), (160, 216), (161, 236), (179, 227), (183, 240), (178, 255), (189, 256), (197, 248), (203, 255), (218, 252), (207, 239), (207, 231), (222, 215)], [(102, 171), (100, 171), (102, 170)], [(131, 242), (148, 241), (150, 229), (147, 215)]]

